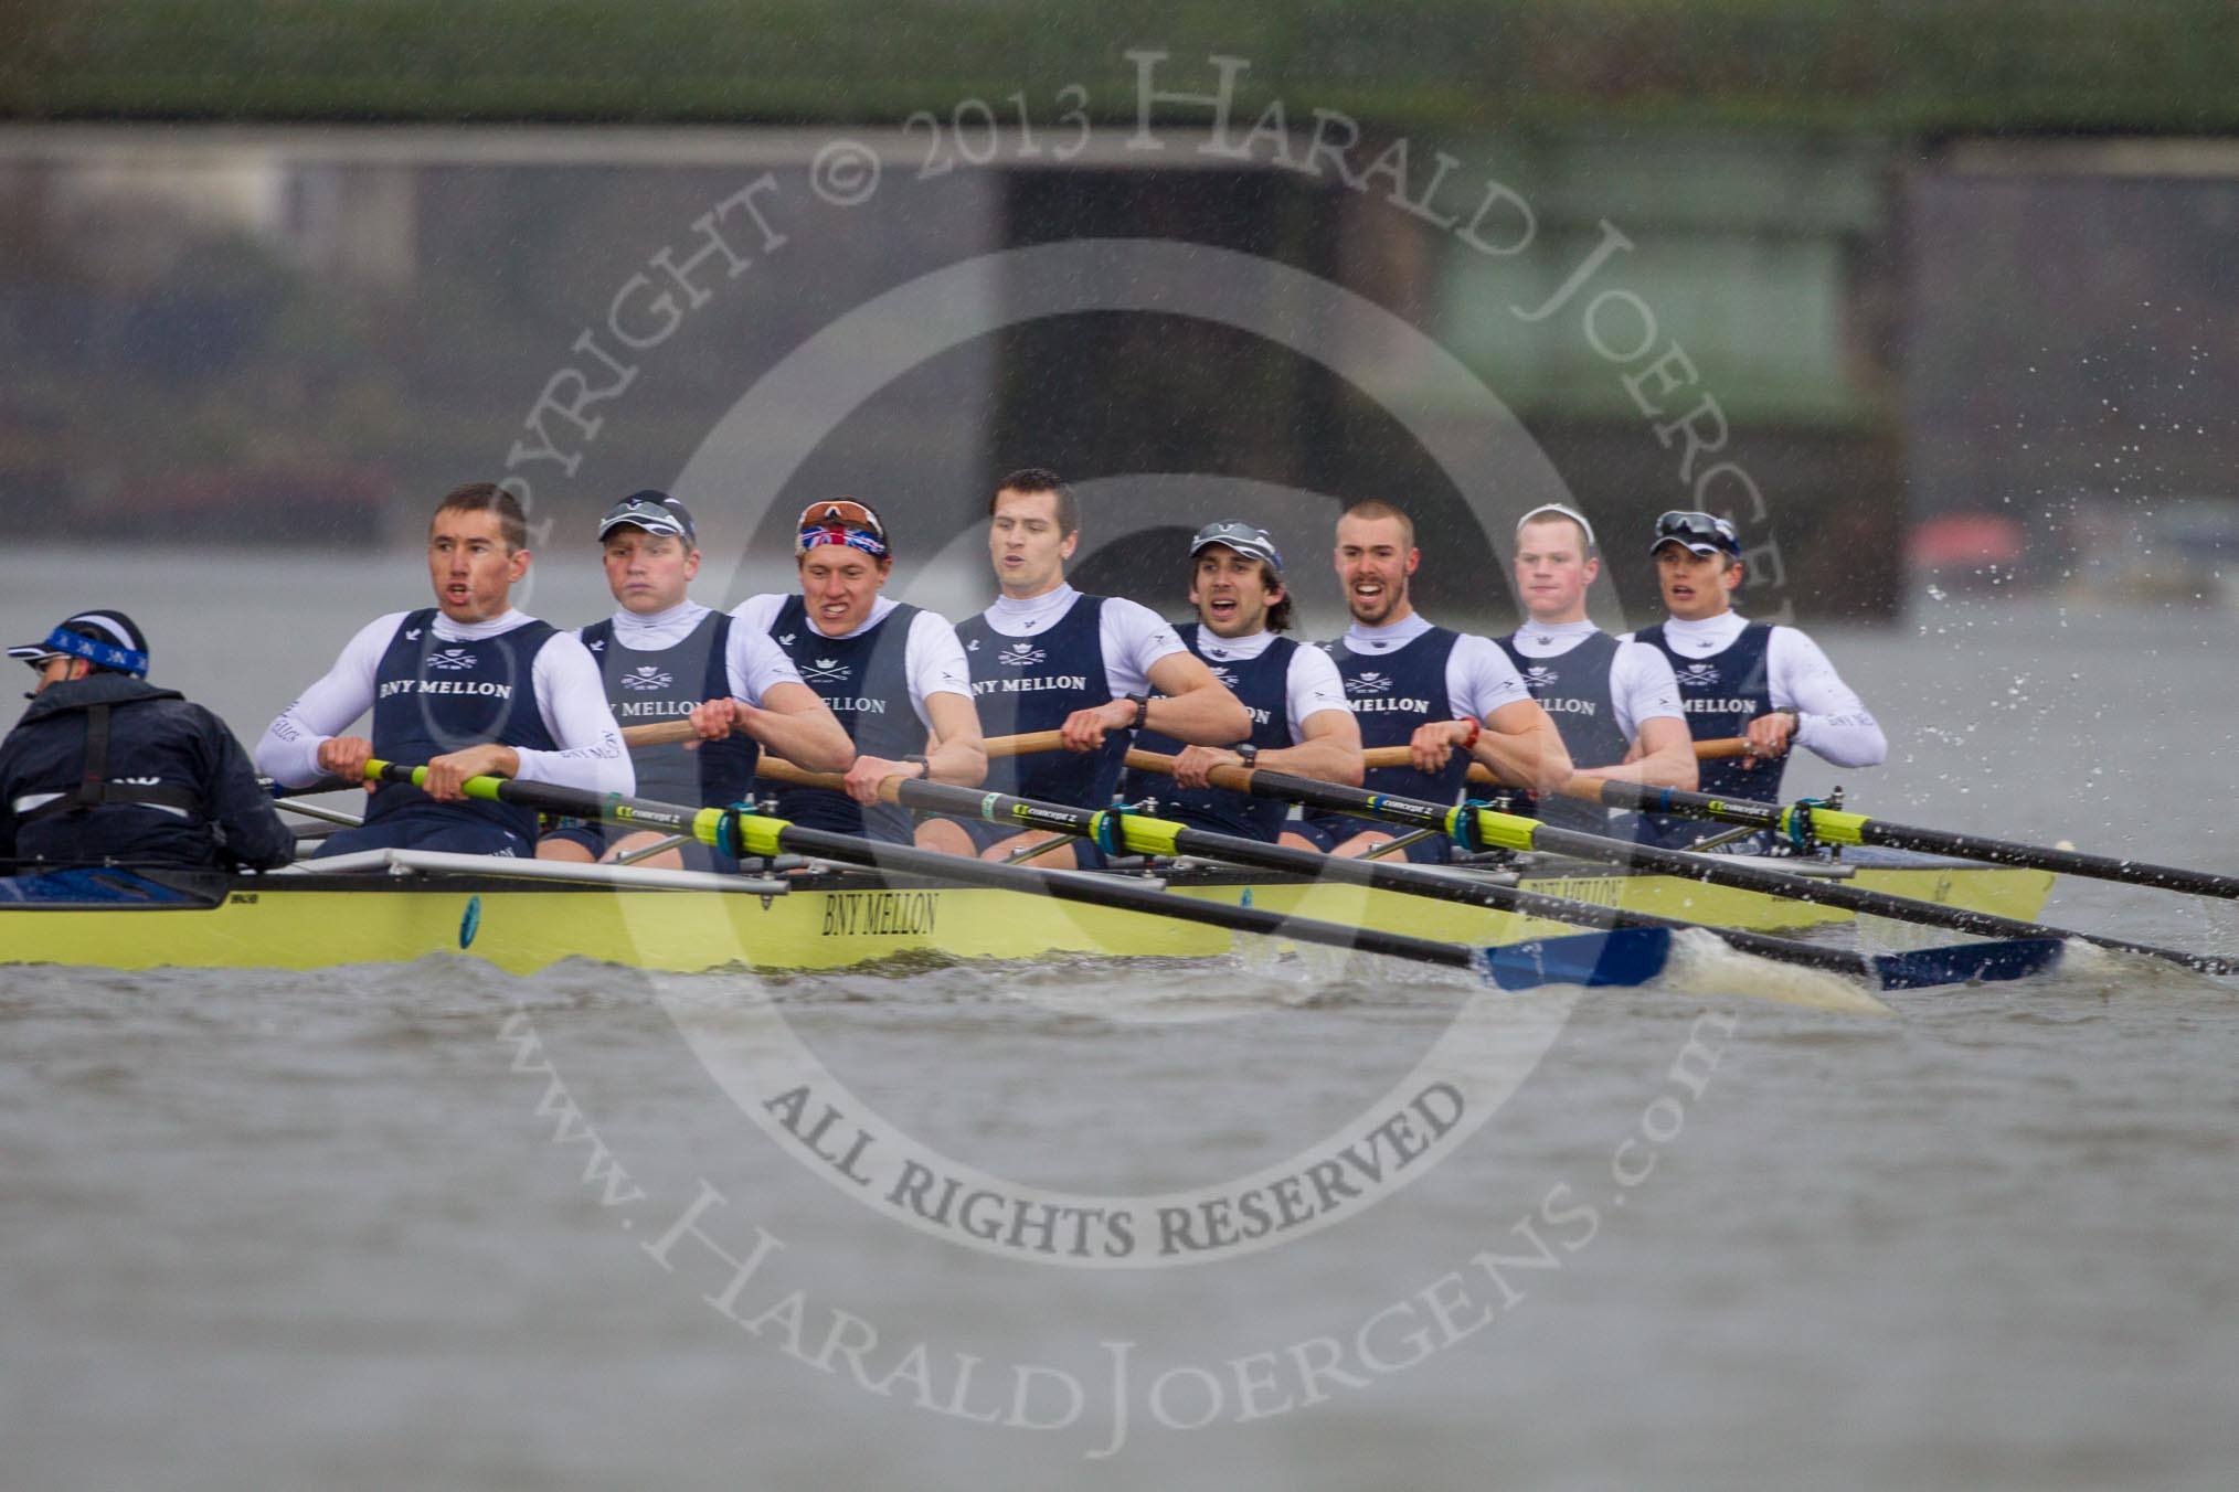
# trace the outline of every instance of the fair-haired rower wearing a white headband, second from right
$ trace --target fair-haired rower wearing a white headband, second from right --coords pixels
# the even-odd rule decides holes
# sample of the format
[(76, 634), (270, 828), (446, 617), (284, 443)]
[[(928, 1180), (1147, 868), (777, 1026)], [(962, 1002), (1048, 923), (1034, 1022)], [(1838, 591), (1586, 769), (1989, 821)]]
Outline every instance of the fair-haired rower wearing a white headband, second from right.
[[(1496, 642), (1554, 716), (1574, 776), (1693, 792), (1695, 740), (1670, 660), (1587, 620), (1585, 591), (1599, 573), (1594, 526), (1583, 512), (1563, 503), (1527, 512), (1516, 523), (1516, 593), (1529, 620)], [(1610, 830), (1605, 808), (1574, 799), (1547, 796), (1534, 812), (1563, 828)]]

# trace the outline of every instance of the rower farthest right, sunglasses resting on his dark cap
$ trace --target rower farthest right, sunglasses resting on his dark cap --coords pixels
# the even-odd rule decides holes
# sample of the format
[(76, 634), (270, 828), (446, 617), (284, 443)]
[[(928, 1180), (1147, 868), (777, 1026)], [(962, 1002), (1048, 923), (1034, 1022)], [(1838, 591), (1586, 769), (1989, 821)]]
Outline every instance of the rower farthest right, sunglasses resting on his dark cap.
[[(1836, 767), (1879, 767), (1890, 754), (1881, 725), (1834, 671), (1811, 638), (1793, 626), (1751, 622), (1733, 611), (1742, 584), (1742, 539), (1711, 512), (1666, 512), (1650, 553), (1664, 586), (1657, 626), (1628, 640), (1670, 658), (1695, 740), (1744, 736), (1749, 756), (1702, 763), (1702, 792), (1778, 801), (1791, 747), (1807, 747)], [(1643, 839), (1688, 846), (1720, 834), (1695, 819), (1643, 814)], [(1737, 848), (1762, 848), (1760, 837)]]

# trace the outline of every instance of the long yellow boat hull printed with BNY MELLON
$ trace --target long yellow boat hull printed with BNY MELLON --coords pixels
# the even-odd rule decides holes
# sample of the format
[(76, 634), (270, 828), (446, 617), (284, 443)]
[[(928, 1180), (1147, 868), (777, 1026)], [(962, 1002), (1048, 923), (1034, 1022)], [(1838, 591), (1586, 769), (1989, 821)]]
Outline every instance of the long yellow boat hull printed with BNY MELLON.
[[(2053, 877), (1999, 866), (1858, 866), (1849, 886), (2035, 917)], [(1661, 875), (1543, 875), (1525, 890), (1749, 931), (1849, 922), (1800, 904)], [(1462, 944), (1576, 931), (1514, 913), (1285, 877), (1175, 875), (1173, 895)], [(1017, 890), (864, 872), (781, 895), (519, 881), (499, 875), (240, 877), (170, 904), (0, 906), (0, 964), (329, 969), (470, 955), (508, 973), (564, 960), (649, 971), (846, 969), (893, 955), (1034, 960), (1064, 953), (1207, 957), (1229, 933)]]

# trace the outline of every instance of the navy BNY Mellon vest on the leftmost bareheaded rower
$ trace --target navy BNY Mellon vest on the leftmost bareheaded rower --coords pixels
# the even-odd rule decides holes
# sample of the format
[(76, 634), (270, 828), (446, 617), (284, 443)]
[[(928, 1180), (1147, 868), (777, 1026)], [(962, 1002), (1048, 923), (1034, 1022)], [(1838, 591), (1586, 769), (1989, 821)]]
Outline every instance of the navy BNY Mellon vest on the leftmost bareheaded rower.
[[(472, 745), (508, 745), (555, 752), (560, 743), (537, 709), (537, 649), (553, 635), (549, 622), (524, 622), (479, 642), (448, 642), (434, 635), (441, 613), (430, 606), (399, 624), (374, 669), (374, 756), (425, 763)], [(396, 814), (499, 823), (537, 841), (537, 810), (510, 803), (437, 803), (405, 783), (383, 785), (365, 805), (365, 821)]]

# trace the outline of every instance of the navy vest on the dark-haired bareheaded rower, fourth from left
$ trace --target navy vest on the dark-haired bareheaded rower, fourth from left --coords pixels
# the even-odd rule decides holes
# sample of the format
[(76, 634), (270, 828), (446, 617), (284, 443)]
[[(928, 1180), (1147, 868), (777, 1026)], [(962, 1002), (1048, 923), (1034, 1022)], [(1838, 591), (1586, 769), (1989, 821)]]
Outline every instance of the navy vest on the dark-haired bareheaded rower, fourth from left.
[[(1104, 597), (1084, 595), (1046, 633), (1008, 638), (985, 615), (956, 626), (972, 669), (981, 729), (992, 736), (1055, 731), (1075, 709), (1111, 705), (1104, 673)], [(1106, 731), (1099, 752), (1034, 752), (987, 763), (987, 792), (1104, 808), (1135, 731)]]

